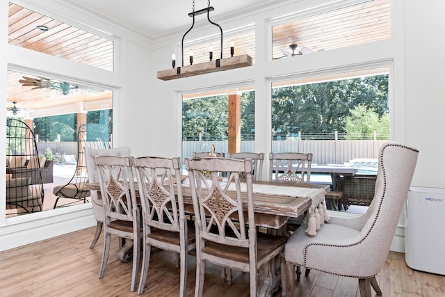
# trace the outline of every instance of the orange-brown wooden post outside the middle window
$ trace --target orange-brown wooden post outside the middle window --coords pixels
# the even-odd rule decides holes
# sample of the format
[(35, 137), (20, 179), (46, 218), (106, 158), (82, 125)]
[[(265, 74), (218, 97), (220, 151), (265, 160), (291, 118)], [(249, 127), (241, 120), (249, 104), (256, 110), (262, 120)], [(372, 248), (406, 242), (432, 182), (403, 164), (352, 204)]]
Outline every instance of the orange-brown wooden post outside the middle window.
[(229, 147), (228, 152), (241, 151), (241, 95), (229, 94)]

